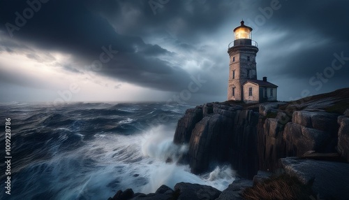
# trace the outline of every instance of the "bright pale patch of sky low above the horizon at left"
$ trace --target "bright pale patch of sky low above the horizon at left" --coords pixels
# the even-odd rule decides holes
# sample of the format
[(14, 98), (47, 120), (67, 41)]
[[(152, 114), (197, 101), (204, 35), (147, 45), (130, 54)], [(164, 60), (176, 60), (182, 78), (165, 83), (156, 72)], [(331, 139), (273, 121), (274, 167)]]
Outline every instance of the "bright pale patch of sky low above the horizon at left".
[[(45, 57), (45, 52), (36, 50), (38, 57)], [(65, 101), (166, 101), (170, 97), (168, 92), (145, 89), (129, 83), (118, 83), (115, 79), (107, 78), (94, 73), (84, 71), (75, 73), (66, 70), (61, 63), (71, 63), (70, 55), (61, 52), (52, 53), (51, 61), (37, 62), (37, 59), (27, 57), (27, 54), (12, 54), (2, 52), (0, 57), (0, 91), (7, 94), (0, 97), (0, 101), (16, 101), (17, 97), (24, 96), (25, 101), (54, 101), (64, 99)], [(16, 62), (13, 62), (15, 59)], [(53, 67), (52, 67), (53, 66)], [(75, 85), (79, 92), (70, 92), (70, 85)], [(114, 85), (114, 87), (109, 87)], [(25, 92), (25, 88), (31, 87), (32, 92)], [(117, 89), (117, 90), (115, 90)], [(6, 91), (6, 92), (5, 92)]]

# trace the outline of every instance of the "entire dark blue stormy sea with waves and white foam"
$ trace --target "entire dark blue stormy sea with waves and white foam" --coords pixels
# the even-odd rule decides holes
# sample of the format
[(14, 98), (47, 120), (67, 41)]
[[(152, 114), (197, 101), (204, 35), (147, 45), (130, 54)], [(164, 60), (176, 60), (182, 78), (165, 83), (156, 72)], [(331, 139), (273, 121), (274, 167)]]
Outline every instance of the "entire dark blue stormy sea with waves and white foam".
[[(174, 131), (185, 110), (193, 106), (1, 103), (0, 199), (106, 200), (117, 190), (150, 193), (179, 182), (224, 190), (234, 180), (228, 166), (197, 176), (189, 166), (176, 163), (188, 147), (172, 143)], [(10, 194), (4, 189), (8, 118)]]

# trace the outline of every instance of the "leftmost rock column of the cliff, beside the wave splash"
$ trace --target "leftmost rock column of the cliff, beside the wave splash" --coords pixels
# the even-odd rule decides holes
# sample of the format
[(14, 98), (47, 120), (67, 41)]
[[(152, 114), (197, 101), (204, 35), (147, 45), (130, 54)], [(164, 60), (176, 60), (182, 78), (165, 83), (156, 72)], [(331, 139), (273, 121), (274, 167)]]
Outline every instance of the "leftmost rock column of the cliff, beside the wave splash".
[(191, 139), (191, 131), (200, 120), (202, 120), (202, 106), (186, 110), (186, 114), (178, 121), (173, 142), (176, 144), (188, 143)]

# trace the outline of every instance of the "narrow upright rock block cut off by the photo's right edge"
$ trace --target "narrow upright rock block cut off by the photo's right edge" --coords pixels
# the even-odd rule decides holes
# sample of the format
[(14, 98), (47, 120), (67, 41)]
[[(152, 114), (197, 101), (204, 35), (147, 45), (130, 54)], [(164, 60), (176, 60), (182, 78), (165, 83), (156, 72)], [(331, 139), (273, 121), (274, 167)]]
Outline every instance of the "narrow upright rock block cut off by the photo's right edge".
[(338, 123), (338, 152), (341, 157), (349, 162), (349, 117), (338, 117)]

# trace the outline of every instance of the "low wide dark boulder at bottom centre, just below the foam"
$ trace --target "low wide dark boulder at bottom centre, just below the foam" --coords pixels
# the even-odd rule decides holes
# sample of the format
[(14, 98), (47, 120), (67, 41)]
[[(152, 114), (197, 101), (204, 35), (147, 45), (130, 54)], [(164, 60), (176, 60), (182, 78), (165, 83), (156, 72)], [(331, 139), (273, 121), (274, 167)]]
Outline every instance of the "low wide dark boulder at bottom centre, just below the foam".
[(208, 185), (183, 182), (174, 185), (174, 191), (179, 193), (178, 200), (217, 199), (221, 194), (221, 191)]

